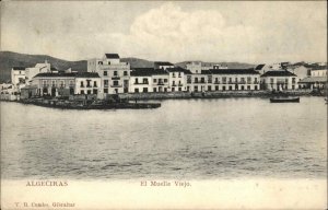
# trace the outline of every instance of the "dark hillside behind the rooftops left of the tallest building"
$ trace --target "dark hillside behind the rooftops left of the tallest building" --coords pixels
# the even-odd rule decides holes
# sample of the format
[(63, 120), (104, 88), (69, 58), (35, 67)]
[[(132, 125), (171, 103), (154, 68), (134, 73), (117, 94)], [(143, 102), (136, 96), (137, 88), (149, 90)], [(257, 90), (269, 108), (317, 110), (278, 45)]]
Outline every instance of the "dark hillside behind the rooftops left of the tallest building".
[(68, 61), (46, 55), (27, 55), (12, 51), (0, 51), (0, 82), (10, 80), (12, 67), (34, 67), (37, 62), (48, 60), (58, 70), (72, 68), (75, 71), (86, 71), (86, 61)]

